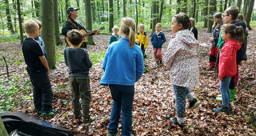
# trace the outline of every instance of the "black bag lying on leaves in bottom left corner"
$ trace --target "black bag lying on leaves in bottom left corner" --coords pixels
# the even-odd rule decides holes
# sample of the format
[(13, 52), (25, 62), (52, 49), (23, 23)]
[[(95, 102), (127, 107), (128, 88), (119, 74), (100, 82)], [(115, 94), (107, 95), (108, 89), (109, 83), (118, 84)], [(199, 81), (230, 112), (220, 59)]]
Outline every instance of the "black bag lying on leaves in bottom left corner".
[(47, 123), (26, 113), (4, 112), (0, 116), (8, 134), (16, 130), (20, 136), (74, 136), (67, 127)]

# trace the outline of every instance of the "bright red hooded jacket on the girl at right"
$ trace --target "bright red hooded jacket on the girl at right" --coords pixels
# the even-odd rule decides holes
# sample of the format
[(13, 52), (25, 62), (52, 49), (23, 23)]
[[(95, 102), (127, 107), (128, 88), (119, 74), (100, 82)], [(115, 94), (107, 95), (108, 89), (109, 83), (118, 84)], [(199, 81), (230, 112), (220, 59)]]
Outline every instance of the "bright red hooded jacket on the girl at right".
[(225, 40), (220, 53), (219, 78), (236, 75), (236, 52), (241, 45), (235, 39)]

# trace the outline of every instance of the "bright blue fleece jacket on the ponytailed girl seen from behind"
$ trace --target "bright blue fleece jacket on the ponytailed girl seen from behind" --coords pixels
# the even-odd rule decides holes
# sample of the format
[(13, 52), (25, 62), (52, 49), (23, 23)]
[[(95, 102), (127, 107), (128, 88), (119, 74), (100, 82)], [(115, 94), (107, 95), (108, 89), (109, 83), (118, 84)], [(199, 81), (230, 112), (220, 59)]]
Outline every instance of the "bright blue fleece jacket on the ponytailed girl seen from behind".
[(105, 73), (101, 77), (101, 85), (134, 85), (144, 72), (140, 46), (135, 43), (135, 46), (130, 48), (128, 38), (113, 42), (105, 54), (102, 69)]

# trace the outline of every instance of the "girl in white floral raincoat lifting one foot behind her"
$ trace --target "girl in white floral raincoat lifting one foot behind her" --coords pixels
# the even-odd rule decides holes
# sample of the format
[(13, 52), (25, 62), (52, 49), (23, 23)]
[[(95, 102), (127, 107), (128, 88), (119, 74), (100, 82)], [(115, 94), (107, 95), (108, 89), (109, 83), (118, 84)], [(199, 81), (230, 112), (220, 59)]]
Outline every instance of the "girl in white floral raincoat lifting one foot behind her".
[(188, 87), (199, 84), (199, 68), (196, 58), (199, 42), (190, 32), (191, 23), (185, 13), (179, 13), (172, 18), (173, 35), (164, 57), (165, 65), (172, 68), (170, 79), (176, 98), (177, 118), (170, 118), (170, 120), (180, 127), (185, 125), (186, 97), (189, 100), (189, 110), (194, 110), (201, 104), (188, 89)]

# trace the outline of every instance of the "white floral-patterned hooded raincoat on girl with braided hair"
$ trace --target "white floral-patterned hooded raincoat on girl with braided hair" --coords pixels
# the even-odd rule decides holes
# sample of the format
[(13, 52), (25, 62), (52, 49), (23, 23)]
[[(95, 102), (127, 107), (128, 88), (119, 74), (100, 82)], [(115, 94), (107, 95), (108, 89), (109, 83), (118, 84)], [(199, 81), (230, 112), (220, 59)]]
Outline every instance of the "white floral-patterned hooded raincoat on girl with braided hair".
[(194, 33), (188, 29), (180, 30), (172, 35), (164, 62), (172, 68), (170, 79), (172, 84), (182, 87), (194, 87), (199, 84), (199, 66), (197, 49), (199, 42)]

